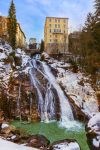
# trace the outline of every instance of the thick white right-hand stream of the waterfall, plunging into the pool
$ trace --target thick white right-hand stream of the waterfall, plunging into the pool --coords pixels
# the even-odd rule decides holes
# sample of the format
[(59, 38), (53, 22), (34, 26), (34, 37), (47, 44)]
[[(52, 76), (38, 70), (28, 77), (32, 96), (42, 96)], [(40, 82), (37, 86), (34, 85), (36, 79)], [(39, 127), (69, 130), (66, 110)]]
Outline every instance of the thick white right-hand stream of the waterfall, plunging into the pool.
[(65, 96), (63, 90), (60, 85), (57, 83), (54, 75), (52, 74), (49, 66), (42, 62), (44, 73), (47, 76), (49, 82), (54, 86), (58, 93), (58, 97), (60, 100), (60, 108), (61, 108), (61, 121), (74, 120), (71, 106), (69, 104), (68, 98)]

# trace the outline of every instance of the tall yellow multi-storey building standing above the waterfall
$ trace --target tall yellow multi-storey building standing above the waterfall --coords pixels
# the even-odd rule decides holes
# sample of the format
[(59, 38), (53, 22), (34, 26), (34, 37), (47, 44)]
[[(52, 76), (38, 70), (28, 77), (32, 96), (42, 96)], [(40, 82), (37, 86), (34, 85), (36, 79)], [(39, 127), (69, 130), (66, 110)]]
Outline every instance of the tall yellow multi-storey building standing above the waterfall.
[(68, 51), (68, 18), (46, 17), (44, 27), (45, 51), (48, 54)]

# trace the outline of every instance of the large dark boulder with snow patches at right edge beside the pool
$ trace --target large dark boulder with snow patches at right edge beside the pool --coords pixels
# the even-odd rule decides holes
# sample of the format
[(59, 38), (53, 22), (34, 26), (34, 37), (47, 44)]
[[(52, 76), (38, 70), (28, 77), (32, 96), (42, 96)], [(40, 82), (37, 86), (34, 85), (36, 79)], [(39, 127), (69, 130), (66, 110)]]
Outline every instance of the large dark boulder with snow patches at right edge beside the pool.
[(100, 112), (95, 114), (86, 126), (87, 142), (91, 150), (100, 150)]

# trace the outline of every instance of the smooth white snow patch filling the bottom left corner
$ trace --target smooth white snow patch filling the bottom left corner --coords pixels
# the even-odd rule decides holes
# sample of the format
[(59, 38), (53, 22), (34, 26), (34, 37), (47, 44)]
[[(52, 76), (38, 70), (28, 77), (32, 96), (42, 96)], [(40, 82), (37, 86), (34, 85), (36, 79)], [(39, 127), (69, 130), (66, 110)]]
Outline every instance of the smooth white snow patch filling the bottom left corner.
[(0, 138), (0, 150), (38, 150), (38, 149), (18, 145)]

